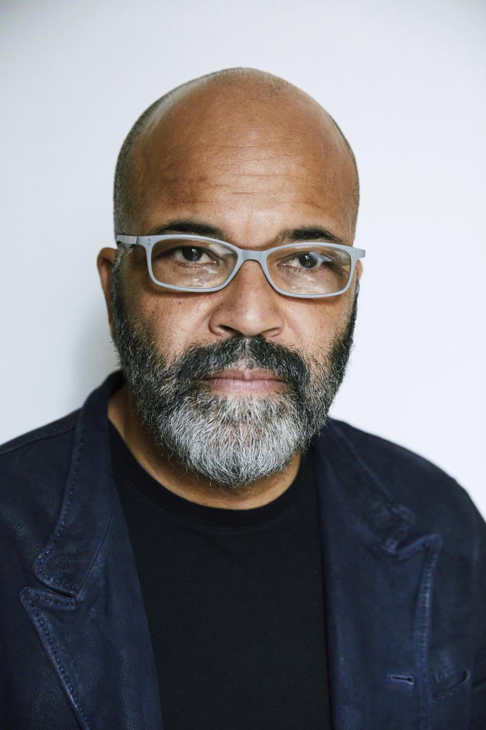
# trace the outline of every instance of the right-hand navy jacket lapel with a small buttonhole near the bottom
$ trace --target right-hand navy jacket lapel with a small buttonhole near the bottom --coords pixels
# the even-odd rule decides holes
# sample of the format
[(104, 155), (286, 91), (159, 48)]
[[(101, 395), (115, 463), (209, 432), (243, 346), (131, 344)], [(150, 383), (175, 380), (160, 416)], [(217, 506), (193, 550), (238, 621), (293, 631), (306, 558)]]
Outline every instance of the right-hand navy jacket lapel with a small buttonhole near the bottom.
[(431, 730), (431, 592), (442, 546), (413, 535), (333, 421), (317, 442), (334, 730)]

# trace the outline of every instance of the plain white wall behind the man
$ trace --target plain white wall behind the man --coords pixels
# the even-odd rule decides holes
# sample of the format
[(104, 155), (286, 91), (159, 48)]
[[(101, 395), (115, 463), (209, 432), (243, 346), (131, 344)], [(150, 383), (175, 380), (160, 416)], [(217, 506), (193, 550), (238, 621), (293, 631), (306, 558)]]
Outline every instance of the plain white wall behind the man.
[(356, 349), (334, 415), (436, 462), (486, 515), (480, 0), (3, 0), (0, 441), (116, 366), (98, 250), (138, 115), (255, 66), (315, 96), (361, 176)]

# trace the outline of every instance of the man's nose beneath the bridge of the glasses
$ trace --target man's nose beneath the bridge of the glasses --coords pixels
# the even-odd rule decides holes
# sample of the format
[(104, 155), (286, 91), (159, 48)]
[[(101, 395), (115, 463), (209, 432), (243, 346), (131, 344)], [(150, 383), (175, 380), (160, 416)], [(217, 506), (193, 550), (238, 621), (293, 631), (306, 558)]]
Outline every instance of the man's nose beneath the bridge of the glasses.
[(285, 326), (283, 295), (270, 286), (256, 261), (245, 261), (235, 278), (217, 294), (209, 321), (213, 334), (261, 334), (267, 339), (281, 334)]

